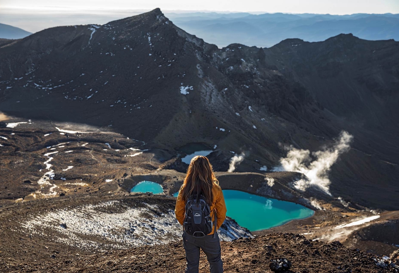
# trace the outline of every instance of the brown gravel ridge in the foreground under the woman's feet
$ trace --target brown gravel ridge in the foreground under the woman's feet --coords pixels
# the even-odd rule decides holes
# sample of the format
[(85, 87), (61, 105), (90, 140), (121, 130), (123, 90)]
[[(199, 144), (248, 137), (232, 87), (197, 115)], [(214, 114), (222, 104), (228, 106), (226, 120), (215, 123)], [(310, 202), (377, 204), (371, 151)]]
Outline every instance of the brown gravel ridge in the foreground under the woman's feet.
[[(225, 272), (272, 272), (271, 259), (284, 257), (291, 261), (290, 271), (296, 273), (383, 273), (398, 272), (374, 255), (346, 248), (339, 242), (326, 244), (309, 241), (292, 233), (273, 233), (255, 239), (222, 242), (222, 259)], [(0, 265), (6, 273), (63, 273), (63, 272), (170, 272), (184, 271), (185, 255), (182, 242), (163, 246), (145, 246), (131, 250), (109, 251), (62, 261)], [(199, 272), (208, 272), (205, 255), (201, 255)]]

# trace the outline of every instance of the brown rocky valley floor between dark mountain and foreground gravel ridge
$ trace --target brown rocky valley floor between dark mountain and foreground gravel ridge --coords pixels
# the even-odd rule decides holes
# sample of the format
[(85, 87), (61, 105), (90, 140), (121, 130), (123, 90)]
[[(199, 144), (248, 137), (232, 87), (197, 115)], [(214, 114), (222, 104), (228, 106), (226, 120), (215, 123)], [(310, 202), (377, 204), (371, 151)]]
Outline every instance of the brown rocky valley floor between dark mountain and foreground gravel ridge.
[[(0, 135), (7, 138), (0, 142), (4, 174), (0, 178), (0, 261), (17, 265), (54, 257), (71, 259), (76, 253), (82, 257), (179, 240), (180, 226), (168, 224), (176, 222), (172, 195), (187, 167), (178, 151), (153, 148), (105, 128), (22, 119), (3, 124), (14, 123), (18, 124), (0, 128)], [(221, 168), (226, 159), (215, 154), (217, 149), (209, 158)], [(256, 236), (299, 233), (309, 240), (340, 240), (381, 257), (397, 250), (395, 211), (370, 210), (320, 191), (298, 193), (292, 181), (302, 175), (294, 172), (217, 175), (223, 189), (292, 201), (316, 211), (310, 218), (253, 232)], [(273, 186), (268, 179), (273, 179)], [(160, 183), (164, 194), (132, 195), (130, 189), (142, 180)], [(146, 240), (132, 231), (147, 234)], [(222, 226), (224, 240), (239, 236), (251, 234), (233, 220)]]

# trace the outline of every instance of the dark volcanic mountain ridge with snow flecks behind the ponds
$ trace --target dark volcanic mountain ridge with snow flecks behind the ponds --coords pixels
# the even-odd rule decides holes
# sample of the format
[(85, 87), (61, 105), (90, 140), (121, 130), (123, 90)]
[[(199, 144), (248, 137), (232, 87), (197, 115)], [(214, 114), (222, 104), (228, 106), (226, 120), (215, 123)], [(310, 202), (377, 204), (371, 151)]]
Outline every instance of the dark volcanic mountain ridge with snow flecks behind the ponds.
[(341, 34), (271, 48), (222, 49), (159, 9), (105, 25), (54, 27), (0, 44), (0, 110), (112, 128), (151, 148), (202, 142), (216, 170), (277, 166), (284, 145), (320, 149), (342, 130), (351, 149), (330, 192), (399, 209), (399, 42)]

